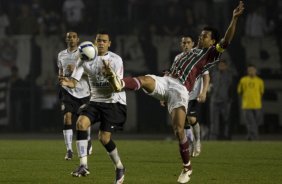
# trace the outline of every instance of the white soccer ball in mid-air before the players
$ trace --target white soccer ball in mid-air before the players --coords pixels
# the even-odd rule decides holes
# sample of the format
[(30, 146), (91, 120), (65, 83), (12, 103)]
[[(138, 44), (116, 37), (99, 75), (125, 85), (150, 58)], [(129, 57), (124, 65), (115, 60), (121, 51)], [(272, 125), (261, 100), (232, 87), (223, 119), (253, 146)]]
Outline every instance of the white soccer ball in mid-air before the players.
[(83, 61), (91, 61), (96, 59), (98, 55), (97, 47), (90, 41), (82, 42), (78, 46), (80, 59)]

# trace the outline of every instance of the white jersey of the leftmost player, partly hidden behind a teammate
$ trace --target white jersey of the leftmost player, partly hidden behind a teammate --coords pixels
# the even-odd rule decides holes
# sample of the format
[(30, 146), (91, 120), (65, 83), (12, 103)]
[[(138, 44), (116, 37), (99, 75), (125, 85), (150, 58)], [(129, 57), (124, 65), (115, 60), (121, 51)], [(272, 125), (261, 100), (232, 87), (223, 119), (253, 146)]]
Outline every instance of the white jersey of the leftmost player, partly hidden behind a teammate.
[[(79, 51), (75, 50), (73, 52), (67, 49), (61, 51), (58, 54), (57, 65), (60, 70), (63, 71), (62, 75), (65, 77), (70, 77), (72, 75), (72, 69), (75, 68), (79, 60)], [(76, 85), (75, 88), (69, 88), (63, 86), (63, 88), (72, 96), (76, 98), (85, 98), (90, 95), (89, 84), (86, 77), (83, 77)]]

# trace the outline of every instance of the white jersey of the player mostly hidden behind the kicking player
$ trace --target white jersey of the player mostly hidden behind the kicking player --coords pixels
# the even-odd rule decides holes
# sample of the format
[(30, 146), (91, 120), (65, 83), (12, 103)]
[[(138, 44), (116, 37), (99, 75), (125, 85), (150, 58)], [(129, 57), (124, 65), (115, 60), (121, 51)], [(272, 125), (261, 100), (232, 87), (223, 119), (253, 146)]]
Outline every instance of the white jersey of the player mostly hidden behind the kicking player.
[[(184, 52), (181, 52), (180, 54), (178, 54), (177, 56), (175, 56), (175, 60), (179, 59), (182, 55), (184, 54)], [(205, 71), (200, 77), (198, 77), (194, 83), (193, 89), (192, 91), (189, 93), (189, 100), (195, 100), (197, 99), (197, 97), (199, 96), (199, 94), (202, 92), (203, 90), (203, 75), (207, 75), (209, 74), (209, 71)]]

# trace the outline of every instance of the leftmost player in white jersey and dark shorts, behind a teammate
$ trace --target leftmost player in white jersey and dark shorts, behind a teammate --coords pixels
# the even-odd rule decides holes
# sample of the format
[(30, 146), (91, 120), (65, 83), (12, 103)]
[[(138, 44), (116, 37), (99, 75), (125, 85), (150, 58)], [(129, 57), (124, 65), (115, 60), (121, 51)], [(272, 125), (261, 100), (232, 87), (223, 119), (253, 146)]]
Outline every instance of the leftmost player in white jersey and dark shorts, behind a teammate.
[[(79, 59), (78, 52), (79, 37), (76, 32), (66, 33), (67, 49), (62, 50), (58, 54), (57, 65), (59, 68), (59, 78), (70, 77), (75, 65)], [(90, 88), (88, 85), (87, 77), (83, 76), (76, 86), (72, 89), (66, 86), (60, 87), (59, 99), (61, 101), (61, 111), (64, 116), (63, 135), (67, 148), (65, 156), (66, 160), (71, 160), (73, 157), (72, 137), (73, 137), (73, 124), (78, 118), (79, 108), (87, 103), (90, 99)], [(88, 154), (92, 152), (90, 128), (88, 130)]]

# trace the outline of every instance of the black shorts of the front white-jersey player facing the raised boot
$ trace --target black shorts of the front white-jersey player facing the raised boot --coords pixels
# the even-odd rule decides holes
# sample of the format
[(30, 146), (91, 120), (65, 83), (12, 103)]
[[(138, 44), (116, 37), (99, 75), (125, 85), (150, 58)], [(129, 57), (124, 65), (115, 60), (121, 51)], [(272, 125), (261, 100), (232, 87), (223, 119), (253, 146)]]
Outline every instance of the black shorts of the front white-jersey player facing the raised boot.
[(80, 115), (87, 116), (91, 124), (100, 122), (100, 130), (113, 132), (123, 130), (126, 121), (126, 105), (90, 101), (80, 109)]

